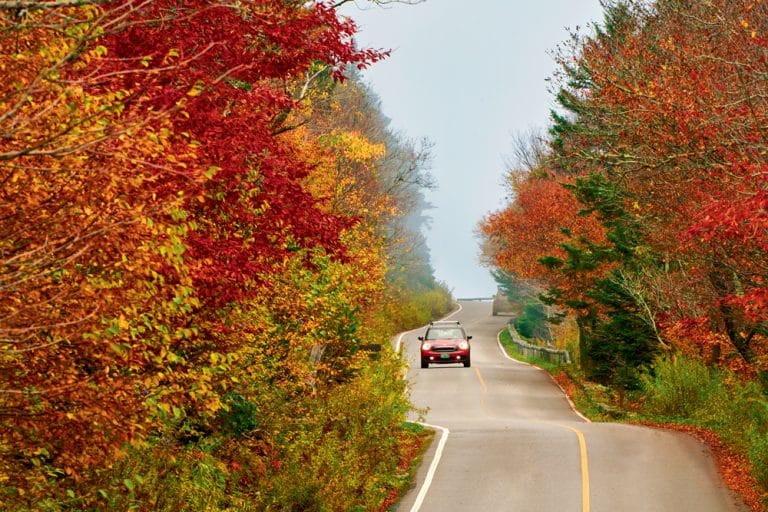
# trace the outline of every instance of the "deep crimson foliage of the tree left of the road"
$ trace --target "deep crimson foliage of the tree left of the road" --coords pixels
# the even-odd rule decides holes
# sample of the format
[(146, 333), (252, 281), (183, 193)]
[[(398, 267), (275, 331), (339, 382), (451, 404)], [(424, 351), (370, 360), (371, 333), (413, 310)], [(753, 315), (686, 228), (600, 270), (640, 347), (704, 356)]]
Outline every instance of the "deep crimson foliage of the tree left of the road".
[[(187, 245), (201, 298), (218, 306), (257, 293), (265, 283), (254, 276), (300, 247), (341, 255), (338, 235), (350, 220), (318, 207), (301, 185), (308, 164), (277, 134), (297, 101), (292, 80), (317, 62), (341, 78), (345, 65), (364, 67), (385, 53), (357, 49), (354, 23), (323, 2), (163, 0), (134, 18), (108, 47), (123, 65), (152, 57), (162, 90), (154, 108), (183, 105), (175, 131), (197, 141), (198, 173), (215, 170), (203, 183), (168, 177), (198, 225)], [(169, 60), (183, 63), (183, 73), (164, 72)], [(127, 75), (126, 85), (139, 78)]]

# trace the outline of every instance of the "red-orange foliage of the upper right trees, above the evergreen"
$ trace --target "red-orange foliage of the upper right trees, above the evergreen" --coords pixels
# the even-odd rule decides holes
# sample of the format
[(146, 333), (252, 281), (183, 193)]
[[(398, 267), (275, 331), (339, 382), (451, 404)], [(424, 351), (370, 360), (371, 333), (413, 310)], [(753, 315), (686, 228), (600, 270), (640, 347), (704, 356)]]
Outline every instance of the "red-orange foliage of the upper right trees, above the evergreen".
[(663, 262), (643, 270), (654, 313), (708, 316), (752, 363), (768, 319), (768, 5), (638, 0), (609, 13), (562, 56), (575, 115), (558, 162), (630, 198), (638, 249)]

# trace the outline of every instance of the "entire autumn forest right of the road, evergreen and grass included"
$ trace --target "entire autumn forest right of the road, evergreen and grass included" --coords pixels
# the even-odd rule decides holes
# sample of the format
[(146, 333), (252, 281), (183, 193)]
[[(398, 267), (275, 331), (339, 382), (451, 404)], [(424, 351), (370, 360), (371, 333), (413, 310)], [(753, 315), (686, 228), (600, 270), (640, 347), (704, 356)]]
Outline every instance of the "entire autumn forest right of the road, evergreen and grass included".
[(586, 378), (720, 433), (768, 489), (768, 5), (604, 8), (555, 51), (484, 258), (575, 320)]

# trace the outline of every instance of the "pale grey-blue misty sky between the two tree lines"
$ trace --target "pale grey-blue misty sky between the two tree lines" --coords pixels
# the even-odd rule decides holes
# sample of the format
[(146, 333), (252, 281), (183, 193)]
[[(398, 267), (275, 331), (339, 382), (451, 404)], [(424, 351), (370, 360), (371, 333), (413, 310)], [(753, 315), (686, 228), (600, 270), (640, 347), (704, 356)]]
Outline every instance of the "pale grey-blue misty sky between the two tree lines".
[(434, 143), (425, 235), (435, 276), (456, 298), (492, 296), (477, 226), (505, 205), (513, 137), (549, 125), (552, 52), (602, 19), (599, 0), (357, 0), (341, 13), (358, 24), (360, 46), (392, 49), (363, 73), (391, 126)]

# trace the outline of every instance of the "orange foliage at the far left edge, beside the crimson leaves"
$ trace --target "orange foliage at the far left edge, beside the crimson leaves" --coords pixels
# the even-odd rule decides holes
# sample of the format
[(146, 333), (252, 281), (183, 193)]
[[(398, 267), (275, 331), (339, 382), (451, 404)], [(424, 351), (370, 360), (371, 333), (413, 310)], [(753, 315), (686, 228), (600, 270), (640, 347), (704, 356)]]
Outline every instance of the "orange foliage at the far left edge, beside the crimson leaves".
[(181, 138), (173, 160), (158, 158), (167, 119), (107, 87), (105, 51), (88, 44), (102, 14), (35, 11), (28, 30), (0, 36), (2, 437), (19, 460), (67, 475), (145, 432), (141, 390), (170, 364), (194, 302), (183, 276), (161, 277), (180, 269), (189, 225), (175, 216), (181, 198), (158, 187), (193, 150)]

